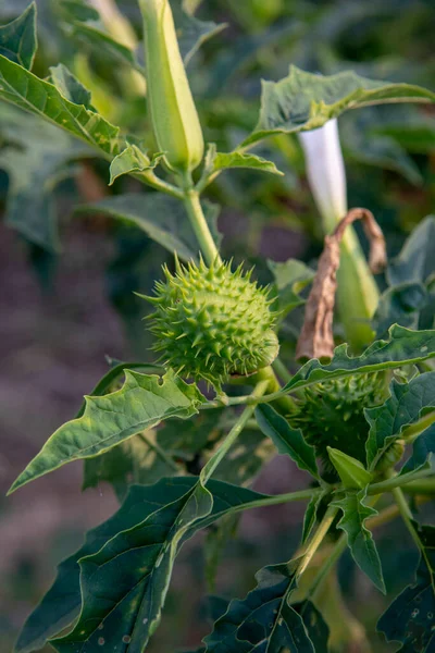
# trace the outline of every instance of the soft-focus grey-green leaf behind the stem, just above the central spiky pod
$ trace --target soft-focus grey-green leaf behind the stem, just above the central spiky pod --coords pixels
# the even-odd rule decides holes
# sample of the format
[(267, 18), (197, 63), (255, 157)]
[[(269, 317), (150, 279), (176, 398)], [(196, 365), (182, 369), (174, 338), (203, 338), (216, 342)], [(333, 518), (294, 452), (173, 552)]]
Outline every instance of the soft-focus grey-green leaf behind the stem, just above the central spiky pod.
[[(216, 242), (219, 207), (203, 202), (206, 219)], [(198, 259), (198, 244), (188, 223), (182, 202), (161, 193), (126, 194), (108, 197), (94, 205), (80, 207), (80, 211), (108, 213), (139, 226), (145, 233), (184, 260)]]

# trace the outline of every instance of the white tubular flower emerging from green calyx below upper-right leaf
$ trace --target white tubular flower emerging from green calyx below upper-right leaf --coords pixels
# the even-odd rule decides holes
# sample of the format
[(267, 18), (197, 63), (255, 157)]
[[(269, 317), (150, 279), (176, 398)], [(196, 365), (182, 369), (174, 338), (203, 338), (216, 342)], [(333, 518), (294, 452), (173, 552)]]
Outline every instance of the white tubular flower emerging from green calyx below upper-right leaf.
[(346, 170), (336, 119), (299, 134), (307, 176), (326, 232), (347, 213)]

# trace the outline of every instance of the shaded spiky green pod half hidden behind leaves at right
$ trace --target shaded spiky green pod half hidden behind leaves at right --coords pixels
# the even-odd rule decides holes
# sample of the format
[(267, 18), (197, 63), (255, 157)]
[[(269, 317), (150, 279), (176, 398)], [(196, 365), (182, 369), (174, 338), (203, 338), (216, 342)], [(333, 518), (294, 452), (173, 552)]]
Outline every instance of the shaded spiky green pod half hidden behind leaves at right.
[(383, 373), (356, 374), (318, 383), (303, 391), (297, 409), (289, 417), (291, 426), (301, 429), (309, 444), (324, 464), (326, 480), (336, 480), (327, 447), (334, 447), (365, 464), (369, 423), (364, 408), (382, 404), (387, 395)]

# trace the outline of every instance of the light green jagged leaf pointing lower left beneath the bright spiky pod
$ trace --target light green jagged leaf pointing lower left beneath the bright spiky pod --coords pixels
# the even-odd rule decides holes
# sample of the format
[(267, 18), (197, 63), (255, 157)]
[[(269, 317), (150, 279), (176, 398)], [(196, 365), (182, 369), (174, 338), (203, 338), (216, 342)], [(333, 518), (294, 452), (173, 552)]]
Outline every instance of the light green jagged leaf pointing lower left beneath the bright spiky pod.
[(83, 416), (49, 438), (10, 492), (66, 463), (102, 454), (163, 419), (187, 419), (198, 411), (204, 399), (196, 385), (188, 385), (172, 372), (160, 381), (159, 377), (126, 370), (121, 390), (103, 397), (87, 397)]

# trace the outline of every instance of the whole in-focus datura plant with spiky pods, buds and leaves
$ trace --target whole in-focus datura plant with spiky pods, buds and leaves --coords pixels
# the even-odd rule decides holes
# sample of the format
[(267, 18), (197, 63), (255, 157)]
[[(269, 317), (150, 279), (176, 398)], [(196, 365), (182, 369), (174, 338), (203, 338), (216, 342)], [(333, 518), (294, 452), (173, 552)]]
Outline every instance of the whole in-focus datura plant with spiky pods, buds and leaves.
[[(95, 2), (92, 12), (100, 5), (102, 0)], [(61, 563), (15, 651), (28, 653), (46, 643), (59, 653), (146, 651), (164, 619), (183, 544), (199, 530), (225, 540), (229, 518), (290, 502), (307, 502), (300, 545), (288, 551), (288, 559), (261, 569), (246, 596), (222, 600), (198, 651), (370, 650), (370, 636), (344, 604), (336, 566), (348, 549), (377, 590), (388, 592), (374, 535), (398, 516), (420, 560), (414, 582), (393, 600), (377, 628), (386, 640), (399, 642), (400, 651), (434, 651), (435, 528), (419, 521), (419, 506), (435, 493), (435, 330), (419, 330), (423, 308), (426, 321), (433, 310), (433, 269), (418, 263), (434, 219), (423, 221), (387, 263), (373, 214), (366, 208), (348, 210), (336, 120), (370, 104), (390, 103), (394, 112), (397, 102), (434, 102), (435, 94), (353, 72), (322, 76), (290, 66), (287, 77), (263, 82), (251, 134), (233, 151), (219, 152), (212, 143), (204, 148), (185, 72), (186, 52), (191, 56), (198, 44), (184, 45), (182, 54), (169, 0), (139, 0), (139, 9), (145, 66), (135, 37), (121, 42), (113, 11), (97, 24), (98, 12), (89, 21), (77, 13), (76, 26), (115, 51), (124, 73), (128, 66), (134, 73), (124, 75), (124, 83), (129, 79), (142, 94), (147, 133), (126, 134), (108, 122), (65, 65), (53, 66), (45, 79), (32, 72), (35, 4), (0, 27), (0, 99), (80, 139), (76, 156), (108, 161), (110, 183), (133, 175), (147, 187), (138, 201), (150, 202), (152, 212), (163, 199), (165, 212), (178, 217), (179, 233), (190, 234), (170, 239), (158, 225), (144, 227), (173, 256), (154, 293), (142, 295), (144, 311), (146, 303), (152, 305), (144, 328), (154, 336), (156, 364), (114, 365), (10, 490), (80, 459), (84, 486), (108, 481), (121, 501)], [(133, 34), (126, 21), (124, 36)], [(101, 24), (111, 27), (104, 32)], [(307, 283), (295, 284), (295, 261), (287, 261), (271, 268), (276, 278), (264, 287), (256, 269), (222, 260), (203, 193), (231, 169), (282, 174), (251, 150), (269, 137), (294, 133), (300, 135), (323, 218), (324, 250)], [(97, 206), (103, 209), (103, 202)], [(369, 241), (368, 262), (355, 221)], [(386, 266), (388, 287), (381, 294), (373, 275)], [(427, 298), (424, 307), (400, 295), (417, 285)], [(345, 331), (335, 330), (336, 294)], [(290, 359), (284, 326), (295, 306), (304, 319)], [(339, 342), (343, 333), (347, 342)], [(262, 455), (256, 455), (260, 448)], [(254, 477), (276, 452), (303, 470), (303, 486), (277, 495), (256, 492)], [(213, 478), (216, 470), (220, 480)]]

